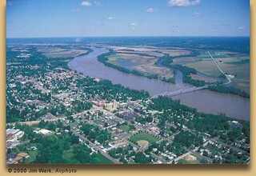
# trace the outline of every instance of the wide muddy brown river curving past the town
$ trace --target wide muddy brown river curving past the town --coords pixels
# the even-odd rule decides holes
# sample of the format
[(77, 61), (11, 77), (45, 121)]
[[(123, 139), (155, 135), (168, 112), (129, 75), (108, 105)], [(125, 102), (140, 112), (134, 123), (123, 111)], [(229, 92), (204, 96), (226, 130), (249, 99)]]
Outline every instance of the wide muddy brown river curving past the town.
[[(182, 82), (182, 73), (178, 71), (176, 84), (162, 82), (156, 79), (139, 77), (126, 74), (114, 68), (104, 66), (98, 62), (98, 55), (107, 53), (105, 48), (92, 48), (90, 54), (74, 58), (68, 63), (71, 70), (77, 70), (86, 76), (108, 79), (114, 84), (130, 87), (135, 90), (146, 90), (150, 95), (160, 94), (166, 91), (180, 90), (192, 87)], [(199, 90), (189, 94), (174, 96), (181, 103), (197, 108), (200, 112), (218, 114), (225, 113), (231, 118), (250, 120), (250, 99), (232, 94), (219, 94), (210, 90)]]

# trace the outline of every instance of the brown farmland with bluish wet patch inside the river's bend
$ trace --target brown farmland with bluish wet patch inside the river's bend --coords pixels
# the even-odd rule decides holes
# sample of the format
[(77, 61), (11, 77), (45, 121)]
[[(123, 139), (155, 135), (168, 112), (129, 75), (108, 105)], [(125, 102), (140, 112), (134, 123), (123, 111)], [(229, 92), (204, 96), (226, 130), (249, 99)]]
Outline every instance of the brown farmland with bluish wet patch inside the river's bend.
[[(114, 54), (108, 57), (108, 62), (116, 66), (121, 66), (128, 70), (136, 70), (142, 74), (158, 74), (162, 78), (172, 78), (174, 76), (170, 68), (158, 66), (159, 58), (166, 54), (171, 57), (181, 57), (191, 54), (190, 50), (182, 48), (160, 48), (154, 46), (106, 46), (107, 49), (114, 50)], [(194, 60), (193, 60), (194, 59)], [(193, 58), (190, 62), (198, 62), (200, 59)], [(179, 58), (176, 62), (187, 63), (190, 57)], [(181, 64), (181, 63), (178, 63)]]

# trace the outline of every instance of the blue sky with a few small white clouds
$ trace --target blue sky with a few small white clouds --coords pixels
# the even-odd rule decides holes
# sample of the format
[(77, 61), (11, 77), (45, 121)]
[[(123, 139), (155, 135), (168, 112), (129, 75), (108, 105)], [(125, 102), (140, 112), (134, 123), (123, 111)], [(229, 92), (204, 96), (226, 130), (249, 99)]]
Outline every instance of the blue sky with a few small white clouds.
[(7, 38), (250, 36), (250, 0), (7, 0)]

